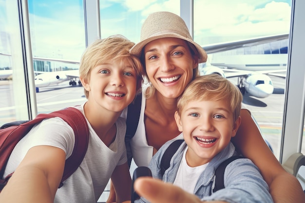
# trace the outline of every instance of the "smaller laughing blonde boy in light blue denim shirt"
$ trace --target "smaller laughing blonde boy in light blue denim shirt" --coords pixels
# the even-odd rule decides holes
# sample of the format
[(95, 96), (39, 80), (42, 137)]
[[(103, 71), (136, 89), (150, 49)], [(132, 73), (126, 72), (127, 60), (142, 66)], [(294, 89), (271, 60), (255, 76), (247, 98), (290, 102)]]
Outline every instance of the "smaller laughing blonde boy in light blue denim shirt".
[[(267, 183), (258, 168), (246, 158), (231, 162), (224, 174), (224, 189), (215, 193), (215, 169), (233, 155), (230, 142), (241, 123), (240, 90), (222, 76), (212, 74), (193, 80), (178, 99), (175, 113), (185, 142), (172, 156), (170, 167), (161, 174), (161, 158), (173, 141), (152, 157), (152, 176), (172, 183), (202, 201), (229, 203), (272, 203)], [(138, 202), (146, 202), (141, 198)]]

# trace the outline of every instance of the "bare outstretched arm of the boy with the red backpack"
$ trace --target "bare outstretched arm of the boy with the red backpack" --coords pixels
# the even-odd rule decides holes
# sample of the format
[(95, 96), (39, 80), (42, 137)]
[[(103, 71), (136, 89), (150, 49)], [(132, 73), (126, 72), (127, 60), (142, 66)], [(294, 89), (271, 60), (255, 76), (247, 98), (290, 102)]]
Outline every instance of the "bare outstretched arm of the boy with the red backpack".
[(65, 158), (65, 152), (56, 147), (31, 148), (1, 191), (0, 202), (53, 203)]

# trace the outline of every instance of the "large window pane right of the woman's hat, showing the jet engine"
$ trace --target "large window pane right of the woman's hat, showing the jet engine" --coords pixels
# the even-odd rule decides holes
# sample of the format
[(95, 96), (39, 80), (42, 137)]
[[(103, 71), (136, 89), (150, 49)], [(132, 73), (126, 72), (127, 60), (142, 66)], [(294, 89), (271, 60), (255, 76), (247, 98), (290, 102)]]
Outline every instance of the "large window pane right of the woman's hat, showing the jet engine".
[[(225, 42), (235, 42), (235, 47), (241, 47), (210, 54), (207, 51), (208, 62), (199, 66), (201, 74), (209, 68), (224, 71), (227, 75), (232, 74), (232, 71), (235, 74), (245, 74), (243, 71), (256, 72), (229, 80), (236, 85), (242, 84), (240, 88), (245, 93), (243, 108), (251, 111), (262, 135), (278, 159), (286, 87), (288, 35), (286, 39), (264, 43), (258, 41), (241, 45), (236, 42), (253, 37), (288, 34), (290, 15), (289, 0), (219, 0), (217, 3), (194, 0), (194, 40), (204, 48), (206, 45)], [(230, 46), (232, 44), (227, 44), (225, 48)], [(270, 74), (259, 73), (264, 70), (268, 70)], [(275, 70), (279, 71), (271, 74)]]

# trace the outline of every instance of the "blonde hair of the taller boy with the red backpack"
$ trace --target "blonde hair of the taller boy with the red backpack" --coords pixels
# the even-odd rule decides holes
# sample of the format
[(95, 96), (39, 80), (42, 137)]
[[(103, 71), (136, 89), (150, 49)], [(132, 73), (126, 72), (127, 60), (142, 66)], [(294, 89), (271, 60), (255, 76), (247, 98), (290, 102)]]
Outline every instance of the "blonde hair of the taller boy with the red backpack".
[[(105, 39), (97, 39), (83, 52), (80, 65), (79, 77), (90, 81), (90, 73), (93, 68), (105, 62), (121, 60), (121, 63), (131, 64), (136, 72), (137, 81), (142, 80), (143, 66), (140, 60), (129, 53), (134, 43), (123, 35), (113, 35)], [(84, 89), (88, 98), (89, 92)]]

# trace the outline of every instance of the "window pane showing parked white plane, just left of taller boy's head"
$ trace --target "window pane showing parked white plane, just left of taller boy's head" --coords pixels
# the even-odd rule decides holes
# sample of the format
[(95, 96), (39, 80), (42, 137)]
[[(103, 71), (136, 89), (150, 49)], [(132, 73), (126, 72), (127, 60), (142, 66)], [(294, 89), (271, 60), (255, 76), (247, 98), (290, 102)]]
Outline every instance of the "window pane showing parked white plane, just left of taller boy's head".
[(85, 50), (83, 1), (28, 0), (28, 7), (38, 113), (83, 103), (78, 83)]

